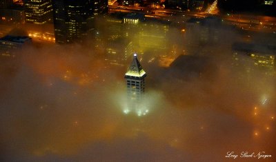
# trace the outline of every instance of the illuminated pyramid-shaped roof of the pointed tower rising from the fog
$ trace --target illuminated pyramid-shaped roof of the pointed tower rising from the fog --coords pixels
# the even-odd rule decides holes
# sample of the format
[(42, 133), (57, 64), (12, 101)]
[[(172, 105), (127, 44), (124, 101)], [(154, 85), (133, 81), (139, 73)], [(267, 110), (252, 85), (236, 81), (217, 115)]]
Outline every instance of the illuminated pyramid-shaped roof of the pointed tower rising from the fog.
[(129, 77), (146, 77), (146, 72), (143, 70), (141, 64), (137, 59), (137, 54), (133, 54), (133, 60), (126, 72), (126, 76)]

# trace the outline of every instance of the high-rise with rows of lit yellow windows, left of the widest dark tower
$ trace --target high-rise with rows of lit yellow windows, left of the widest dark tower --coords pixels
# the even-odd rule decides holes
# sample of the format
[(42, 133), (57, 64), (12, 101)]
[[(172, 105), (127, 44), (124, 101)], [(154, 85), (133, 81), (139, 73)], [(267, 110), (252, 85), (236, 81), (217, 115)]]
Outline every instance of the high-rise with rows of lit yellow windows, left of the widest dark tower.
[(44, 24), (52, 21), (51, 0), (23, 0), (26, 10), (26, 22)]

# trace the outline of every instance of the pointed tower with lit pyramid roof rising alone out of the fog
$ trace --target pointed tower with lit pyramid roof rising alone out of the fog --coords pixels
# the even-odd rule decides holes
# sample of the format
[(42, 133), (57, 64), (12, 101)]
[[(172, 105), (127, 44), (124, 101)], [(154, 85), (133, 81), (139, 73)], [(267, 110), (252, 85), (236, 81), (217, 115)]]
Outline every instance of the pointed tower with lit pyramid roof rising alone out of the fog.
[(128, 93), (128, 108), (124, 110), (125, 114), (135, 111), (138, 116), (141, 116), (148, 112), (142, 103), (145, 90), (145, 77), (146, 72), (139, 63), (137, 54), (134, 54), (132, 63), (125, 74)]

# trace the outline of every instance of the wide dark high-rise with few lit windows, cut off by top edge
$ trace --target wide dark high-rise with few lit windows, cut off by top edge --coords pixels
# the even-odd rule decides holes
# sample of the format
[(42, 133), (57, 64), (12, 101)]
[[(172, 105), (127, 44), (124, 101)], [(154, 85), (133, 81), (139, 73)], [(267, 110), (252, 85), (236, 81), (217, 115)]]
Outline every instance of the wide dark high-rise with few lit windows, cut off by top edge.
[(55, 0), (53, 8), (56, 42), (72, 43), (94, 30), (95, 16), (108, 12), (108, 1)]

